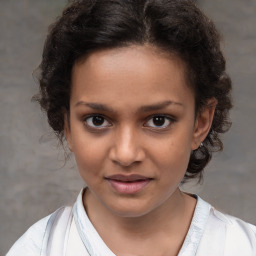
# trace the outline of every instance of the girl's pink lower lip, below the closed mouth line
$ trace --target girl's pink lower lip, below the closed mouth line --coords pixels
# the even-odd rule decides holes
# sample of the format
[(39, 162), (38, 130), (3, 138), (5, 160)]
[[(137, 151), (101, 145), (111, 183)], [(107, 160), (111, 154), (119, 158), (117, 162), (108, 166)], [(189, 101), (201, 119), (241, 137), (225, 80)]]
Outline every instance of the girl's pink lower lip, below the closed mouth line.
[(146, 179), (133, 182), (123, 182), (108, 179), (107, 181), (112, 186), (112, 188), (120, 194), (135, 194), (140, 192), (144, 187), (146, 187), (151, 180)]

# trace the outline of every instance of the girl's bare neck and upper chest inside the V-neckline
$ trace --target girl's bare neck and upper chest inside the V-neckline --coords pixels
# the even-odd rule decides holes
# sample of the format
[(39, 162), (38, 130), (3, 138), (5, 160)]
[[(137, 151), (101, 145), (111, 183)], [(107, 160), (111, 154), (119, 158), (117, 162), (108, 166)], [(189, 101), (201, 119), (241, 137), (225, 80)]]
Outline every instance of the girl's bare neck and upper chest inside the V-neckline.
[(192, 220), (196, 205), (194, 198), (177, 189), (150, 213), (122, 217), (109, 211), (89, 190), (87, 192), (84, 199), (87, 214), (105, 244), (116, 255), (179, 253)]

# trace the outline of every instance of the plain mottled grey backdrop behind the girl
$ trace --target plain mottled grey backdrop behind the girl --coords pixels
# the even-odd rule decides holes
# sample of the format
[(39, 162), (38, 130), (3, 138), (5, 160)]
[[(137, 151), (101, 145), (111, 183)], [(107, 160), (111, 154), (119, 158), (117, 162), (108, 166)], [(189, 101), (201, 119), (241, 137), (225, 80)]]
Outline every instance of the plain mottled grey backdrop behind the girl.
[[(0, 0), (0, 255), (35, 221), (72, 203), (83, 182), (31, 96), (47, 26), (65, 0)], [(256, 1), (207, 0), (199, 6), (224, 35), (233, 78), (233, 126), (201, 186), (186, 189), (256, 223)]]

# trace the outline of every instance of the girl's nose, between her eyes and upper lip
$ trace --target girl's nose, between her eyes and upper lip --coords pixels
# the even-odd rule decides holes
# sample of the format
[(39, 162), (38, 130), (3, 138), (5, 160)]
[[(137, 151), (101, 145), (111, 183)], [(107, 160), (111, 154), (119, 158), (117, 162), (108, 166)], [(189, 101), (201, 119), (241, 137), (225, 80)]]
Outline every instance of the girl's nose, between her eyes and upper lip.
[(109, 157), (113, 162), (125, 167), (142, 162), (145, 151), (136, 131), (128, 126), (120, 128), (115, 134)]

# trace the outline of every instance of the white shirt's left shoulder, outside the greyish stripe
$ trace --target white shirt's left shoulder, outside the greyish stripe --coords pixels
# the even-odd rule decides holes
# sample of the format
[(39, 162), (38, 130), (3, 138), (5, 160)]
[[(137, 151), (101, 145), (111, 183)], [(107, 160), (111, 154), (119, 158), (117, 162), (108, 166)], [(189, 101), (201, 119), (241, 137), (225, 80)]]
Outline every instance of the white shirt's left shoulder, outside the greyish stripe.
[(51, 228), (54, 219), (57, 214), (65, 209), (61, 207), (54, 213), (48, 215), (47, 217), (39, 220), (34, 225), (32, 225), (11, 247), (6, 256), (39, 256), (41, 255), (43, 242), (45, 236), (47, 236), (47, 230)]

